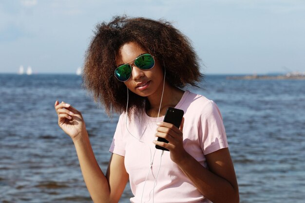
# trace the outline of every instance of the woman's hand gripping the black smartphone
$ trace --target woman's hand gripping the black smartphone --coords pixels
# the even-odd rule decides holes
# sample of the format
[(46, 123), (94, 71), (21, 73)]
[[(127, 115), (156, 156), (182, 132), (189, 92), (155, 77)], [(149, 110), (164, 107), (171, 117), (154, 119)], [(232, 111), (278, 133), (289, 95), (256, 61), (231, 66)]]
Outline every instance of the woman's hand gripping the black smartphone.
[(175, 127), (174, 125), (166, 122), (160, 122), (157, 124), (158, 128), (155, 136), (161, 137), (169, 141), (169, 143), (153, 141), (155, 145), (160, 147), (164, 147), (170, 150), (171, 159), (173, 162), (178, 164), (183, 161), (183, 159), (187, 156), (186, 150), (183, 148), (183, 123), (184, 118), (182, 118), (180, 128)]

